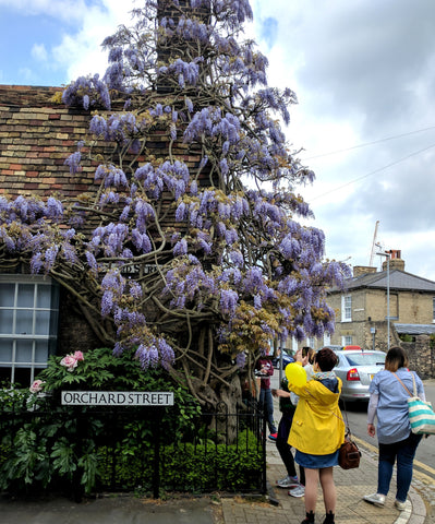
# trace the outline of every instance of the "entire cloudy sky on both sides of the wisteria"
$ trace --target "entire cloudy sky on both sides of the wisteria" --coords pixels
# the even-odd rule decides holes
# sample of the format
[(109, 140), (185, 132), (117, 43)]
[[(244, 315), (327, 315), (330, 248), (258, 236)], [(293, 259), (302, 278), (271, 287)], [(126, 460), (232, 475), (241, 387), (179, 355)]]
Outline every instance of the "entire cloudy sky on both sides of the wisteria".
[[(102, 39), (138, 5), (0, 0), (0, 84), (102, 74)], [(435, 2), (251, 5), (245, 34), (269, 60), (268, 84), (298, 96), (285, 132), (316, 174), (299, 192), (315, 215), (307, 225), (325, 233), (326, 258), (380, 269), (377, 251), (400, 250), (404, 271), (435, 281)]]

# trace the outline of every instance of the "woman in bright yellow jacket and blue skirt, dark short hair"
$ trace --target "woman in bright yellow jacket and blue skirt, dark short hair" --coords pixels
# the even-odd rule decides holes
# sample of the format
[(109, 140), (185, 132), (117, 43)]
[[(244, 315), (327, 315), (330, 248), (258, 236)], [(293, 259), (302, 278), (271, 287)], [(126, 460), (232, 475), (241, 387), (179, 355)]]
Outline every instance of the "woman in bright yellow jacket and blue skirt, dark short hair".
[[(302, 364), (302, 355), (295, 357)], [(301, 524), (314, 523), (318, 481), (326, 512), (323, 524), (335, 523), (334, 466), (338, 465), (338, 450), (345, 441), (345, 422), (338, 407), (341, 380), (333, 371), (337, 360), (336, 354), (324, 347), (316, 353), (313, 379), (304, 385), (289, 383), (290, 391), (299, 396), (289, 444), (297, 450), (295, 462), (305, 471), (306, 516)]]

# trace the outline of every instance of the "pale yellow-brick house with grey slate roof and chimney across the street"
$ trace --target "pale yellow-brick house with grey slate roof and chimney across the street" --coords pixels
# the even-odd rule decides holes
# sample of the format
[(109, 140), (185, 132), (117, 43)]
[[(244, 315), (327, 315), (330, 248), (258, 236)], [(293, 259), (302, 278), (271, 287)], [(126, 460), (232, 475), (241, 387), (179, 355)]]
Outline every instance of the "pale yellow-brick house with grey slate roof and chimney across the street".
[[(435, 333), (435, 282), (407, 273), (400, 251), (391, 251), (389, 275), (383, 271), (355, 266), (345, 291), (334, 288), (328, 303), (336, 311), (336, 331), (322, 343), (357, 344), (387, 349), (387, 308), (389, 287), (390, 344), (401, 344), (400, 335), (414, 340)], [(321, 344), (322, 344), (321, 343)]]

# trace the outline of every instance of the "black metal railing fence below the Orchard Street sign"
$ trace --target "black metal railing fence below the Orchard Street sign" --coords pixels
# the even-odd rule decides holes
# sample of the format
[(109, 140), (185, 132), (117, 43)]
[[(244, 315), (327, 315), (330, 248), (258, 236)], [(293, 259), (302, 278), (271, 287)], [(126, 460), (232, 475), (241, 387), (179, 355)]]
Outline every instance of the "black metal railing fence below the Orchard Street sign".
[[(70, 439), (77, 457), (93, 457), (94, 491), (140, 491), (154, 498), (165, 492), (266, 492), (266, 421), (257, 404), (228, 413), (223, 403), (215, 413), (203, 413), (189, 424), (168, 416), (170, 407), (57, 407), (53, 410), (9, 409), (1, 413), (3, 442), (13, 445), (21, 427), (34, 432), (48, 425), (61, 428), (45, 440)], [(64, 431), (63, 431), (64, 430)], [(9, 434), (5, 439), (4, 437)], [(4, 475), (8, 450), (0, 453)], [(83, 464), (57, 484), (76, 500), (83, 492)], [(88, 467), (88, 466), (86, 466)], [(1, 480), (1, 478), (0, 478)], [(50, 487), (49, 487), (50, 488)], [(28, 491), (32, 485), (28, 486)]]

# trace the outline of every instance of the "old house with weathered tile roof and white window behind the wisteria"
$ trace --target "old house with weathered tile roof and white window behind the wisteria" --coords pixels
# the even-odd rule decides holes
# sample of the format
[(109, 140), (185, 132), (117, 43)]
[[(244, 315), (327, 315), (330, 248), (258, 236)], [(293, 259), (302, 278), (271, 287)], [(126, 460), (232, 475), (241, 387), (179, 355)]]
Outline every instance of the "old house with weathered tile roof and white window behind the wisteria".
[[(0, 85), (0, 200), (2, 195), (43, 200), (55, 195), (71, 201), (98, 190), (94, 181), (97, 163), (84, 160), (75, 175), (64, 165), (77, 142), (86, 138), (92, 115), (59, 103), (61, 92), (60, 87)], [(122, 100), (113, 103), (110, 114), (122, 107)], [(147, 151), (156, 157), (167, 154), (167, 134), (158, 129), (147, 135)], [(97, 144), (93, 152), (105, 153), (107, 147), (111, 145)], [(178, 142), (172, 152), (188, 168), (197, 167), (200, 155), (186, 144)], [(141, 162), (145, 157), (138, 157)], [(167, 213), (167, 221), (173, 225), (172, 213)], [(32, 275), (19, 258), (4, 257), (4, 250), (2, 243), (0, 382), (26, 385), (46, 367), (50, 354), (105, 345), (71, 293), (47, 276)]]

